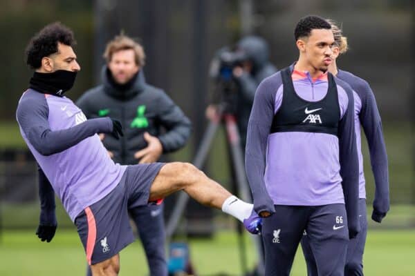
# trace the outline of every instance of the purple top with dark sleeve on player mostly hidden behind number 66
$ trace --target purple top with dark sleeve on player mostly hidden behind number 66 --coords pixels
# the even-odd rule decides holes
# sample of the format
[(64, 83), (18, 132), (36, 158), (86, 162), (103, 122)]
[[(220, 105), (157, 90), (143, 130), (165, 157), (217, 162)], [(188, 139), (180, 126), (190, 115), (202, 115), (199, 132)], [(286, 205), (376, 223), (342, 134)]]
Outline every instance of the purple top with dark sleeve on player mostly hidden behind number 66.
[(382, 135), (382, 121), (378, 106), (376, 105), (374, 92), (372, 92), (367, 81), (353, 75), (351, 72), (339, 70), (336, 77), (346, 81), (353, 88), (354, 92), (355, 131), (359, 159), (359, 197), (366, 198), (361, 149), (362, 135), (360, 133), (360, 126), (362, 126), (367, 138), (367, 144), (369, 145), (371, 168), (375, 177), (374, 215), (380, 217), (381, 220), (389, 210), (389, 173), (385, 140)]

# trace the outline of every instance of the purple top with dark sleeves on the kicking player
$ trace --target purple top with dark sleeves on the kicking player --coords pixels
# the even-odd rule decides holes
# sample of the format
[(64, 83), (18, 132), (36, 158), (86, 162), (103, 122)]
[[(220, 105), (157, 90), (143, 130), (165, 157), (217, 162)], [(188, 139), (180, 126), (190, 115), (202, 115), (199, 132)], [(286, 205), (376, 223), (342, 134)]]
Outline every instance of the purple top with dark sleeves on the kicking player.
[(114, 164), (96, 134), (112, 131), (109, 117), (86, 120), (71, 99), (33, 89), (21, 96), (16, 116), (21, 136), (42, 168), (39, 188), (50, 194), (44, 172), (73, 221), (118, 185), (126, 166)]

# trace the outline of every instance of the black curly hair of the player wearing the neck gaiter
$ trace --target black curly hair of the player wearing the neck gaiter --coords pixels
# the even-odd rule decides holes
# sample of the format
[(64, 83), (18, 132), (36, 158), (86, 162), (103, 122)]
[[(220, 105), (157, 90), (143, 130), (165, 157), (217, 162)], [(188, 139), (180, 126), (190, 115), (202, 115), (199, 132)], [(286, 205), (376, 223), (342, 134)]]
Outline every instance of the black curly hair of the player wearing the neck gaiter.
[(35, 34), (26, 47), (26, 63), (30, 68), (37, 69), (42, 66), (42, 59), (57, 52), (57, 43), (67, 46), (76, 44), (73, 32), (60, 22), (46, 25)]

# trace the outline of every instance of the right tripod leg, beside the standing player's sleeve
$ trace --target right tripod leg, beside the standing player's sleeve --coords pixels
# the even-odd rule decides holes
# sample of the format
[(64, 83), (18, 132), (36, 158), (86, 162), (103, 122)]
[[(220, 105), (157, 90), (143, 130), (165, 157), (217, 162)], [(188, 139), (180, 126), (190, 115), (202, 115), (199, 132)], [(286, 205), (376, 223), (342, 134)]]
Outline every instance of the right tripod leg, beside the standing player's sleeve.
[[(232, 158), (232, 168), (237, 180), (237, 188), (239, 196), (243, 201), (252, 201), (248, 181), (246, 179), (245, 165), (243, 162), (243, 151), (241, 149), (239, 131), (236, 119), (233, 115), (225, 115), (226, 133), (228, 135), (228, 143), (230, 145), (230, 155)], [(259, 235), (252, 235), (254, 244), (257, 247), (258, 254), (258, 273), (264, 275), (264, 250), (262, 249), (262, 241)]]

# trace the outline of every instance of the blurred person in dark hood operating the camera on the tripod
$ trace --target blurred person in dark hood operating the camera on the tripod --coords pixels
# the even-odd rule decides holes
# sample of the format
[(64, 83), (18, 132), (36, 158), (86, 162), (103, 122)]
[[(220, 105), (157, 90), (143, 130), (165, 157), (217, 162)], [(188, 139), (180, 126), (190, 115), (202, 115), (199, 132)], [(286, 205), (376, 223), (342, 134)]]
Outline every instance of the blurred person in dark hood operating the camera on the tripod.
[[(243, 52), (248, 59), (240, 66), (234, 66), (232, 75), (237, 83), (236, 106), (232, 106), (237, 117), (241, 146), (243, 150), (246, 144), (246, 130), (255, 91), (259, 83), (277, 72), (277, 68), (269, 61), (268, 43), (257, 36), (243, 37), (236, 47), (236, 51)], [(206, 109), (206, 116), (210, 119), (215, 116), (216, 106), (210, 105)]]

